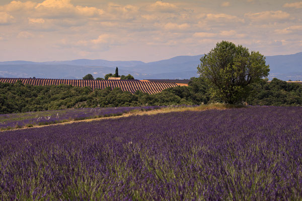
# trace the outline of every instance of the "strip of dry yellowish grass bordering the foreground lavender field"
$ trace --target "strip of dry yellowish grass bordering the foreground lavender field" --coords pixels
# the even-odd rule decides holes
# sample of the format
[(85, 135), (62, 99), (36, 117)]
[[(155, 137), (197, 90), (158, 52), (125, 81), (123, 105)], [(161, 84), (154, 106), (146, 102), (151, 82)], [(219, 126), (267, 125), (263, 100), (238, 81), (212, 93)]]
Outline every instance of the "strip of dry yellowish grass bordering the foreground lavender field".
[[(225, 109), (231, 109), (231, 108), (244, 108), (245, 106), (236, 106), (236, 105), (226, 105), (226, 104), (207, 104), (207, 105), (200, 105), (196, 107), (168, 107), (168, 108), (161, 108), (158, 110), (150, 110), (150, 111), (141, 111), (141, 110), (132, 110), (128, 113), (124, 113), (121, 116), (114, 116), (114, 117), (101, 117), (101, 118), (95, 118), (95, 119), (86, 119), (86, 120), (70, 120), (68, 122), (58, 123), (58, 124), (50, 124), (50, 125), (33, 125), (33, 127), (30, 128), (16, 128), (12, 130), (21, 130), (21, 129), (31, 129), (31, 128), (40, 128), (40, 127), (46, 127), (46, 126), (54, 126), (54, 125), (64, 125), (64, 124), (72, 124), (75, 122), (91, 122), (91, 121), (100, 121), (100, 120), (106, 120), (106, 119), (118, 119), (123, 117), (129, 117), (129, 116), (140, 116), (140, 115), (156, 115), (156, 114), (163, 114), (163, 113), (171, 113), (171, 112), (185, 112), (185, 111), (204, 111), (204, 110), (225, 110)], [(4, 132), (4, 131), (0, 131)]]

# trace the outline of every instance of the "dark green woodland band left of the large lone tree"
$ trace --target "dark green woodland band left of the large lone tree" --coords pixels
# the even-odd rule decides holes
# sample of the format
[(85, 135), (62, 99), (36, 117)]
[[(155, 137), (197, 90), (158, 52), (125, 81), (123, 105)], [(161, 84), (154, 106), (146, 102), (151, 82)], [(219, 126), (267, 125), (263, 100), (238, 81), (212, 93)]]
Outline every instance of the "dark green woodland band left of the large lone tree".
[(73, 87), (71, 85), (34, 86), (0, 83), (0, 114), (29, 111), (58, 110), (81, 107), (170, 106), (207, 103), (209, 93), (200, 78), (194, 78), (189, 87), (178, 86), (161, 93), (147, 94), (122, 91), (120, 88)]

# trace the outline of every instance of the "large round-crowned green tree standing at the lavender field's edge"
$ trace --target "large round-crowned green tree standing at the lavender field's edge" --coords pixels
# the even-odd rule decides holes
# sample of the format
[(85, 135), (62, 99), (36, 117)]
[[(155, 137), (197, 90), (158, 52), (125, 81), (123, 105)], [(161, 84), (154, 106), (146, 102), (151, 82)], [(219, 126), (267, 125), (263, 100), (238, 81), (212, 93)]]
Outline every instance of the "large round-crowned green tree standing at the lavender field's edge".
[(222, 41), (200, 58), (200, 77), (210, 87), (213, 96), (229, 104), (240, 103), (250, 92), (250, 84), (266, 77), (269, 65), (259, 52)]

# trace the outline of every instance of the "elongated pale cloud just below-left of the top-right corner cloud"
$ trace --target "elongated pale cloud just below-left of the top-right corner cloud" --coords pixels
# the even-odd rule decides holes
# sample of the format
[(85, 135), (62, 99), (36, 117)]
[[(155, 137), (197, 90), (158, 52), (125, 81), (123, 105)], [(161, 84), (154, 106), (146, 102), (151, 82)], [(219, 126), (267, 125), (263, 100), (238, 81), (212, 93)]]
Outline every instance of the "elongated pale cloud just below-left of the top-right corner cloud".
[(260, 13), (246, 13), (246, 18), (253, 22), (265, 22), (265, 21), (280, 21), (289, 19), (290, 15), (283, 11), (264, 11)]

